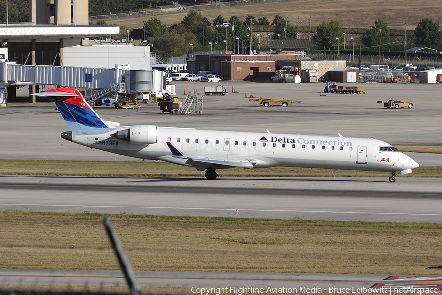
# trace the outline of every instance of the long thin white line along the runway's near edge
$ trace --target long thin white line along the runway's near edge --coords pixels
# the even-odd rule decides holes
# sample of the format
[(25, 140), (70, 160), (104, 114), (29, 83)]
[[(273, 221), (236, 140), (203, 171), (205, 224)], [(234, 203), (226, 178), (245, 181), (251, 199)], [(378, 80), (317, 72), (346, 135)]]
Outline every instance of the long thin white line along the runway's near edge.
[(310, 211), (310, 210), (271, 210), (271, 209), (227, 209), (227, 208), (180, 208), (180, 207), (142, 207), (142, 206), (101, 206), (101, 205), (56, 205), (56, 204), (18, 204), (0, 203), (5, 206), (46, 206), (46, 207), (94, 207), (94, 208), (129, 208), (129, 209), (167, 209), (167, 210), (213, 210), (213, 211), (259, 211), (259, 212), (293, 212), (293, 213), (332, 213), (332, 214), (379, 214), (379, 215), (412, 215), (442, 216), (426, 213), (382, 213), (382, 212), (345, 212), (345, 211)]

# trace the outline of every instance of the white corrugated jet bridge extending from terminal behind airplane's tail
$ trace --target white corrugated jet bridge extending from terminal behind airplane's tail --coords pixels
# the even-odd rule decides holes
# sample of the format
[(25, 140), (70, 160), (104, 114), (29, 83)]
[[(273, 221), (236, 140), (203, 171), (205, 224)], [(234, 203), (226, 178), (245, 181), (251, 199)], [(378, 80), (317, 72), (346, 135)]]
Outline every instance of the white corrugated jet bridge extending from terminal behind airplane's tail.
[[(139, 81), (141, 73), (146, 81)], [(117, 64), (115, 68), (80, 66), (21, 65), (0, 62), (0, 106), (7, 104), (8, 86), (58, 85), (60, 87), (109, 89), (125, 84), (130, 94), (166, 91), (166, 73), (158, 70), (131, 70), (130, 65)], [(137, 81), (135, 79), (138, 79)], [(132, 81), (134, 80), (134, 81)], [(133, 85), (143, 84), (142, 91)], [(131, 87), (132, 86), (132, 87)]]

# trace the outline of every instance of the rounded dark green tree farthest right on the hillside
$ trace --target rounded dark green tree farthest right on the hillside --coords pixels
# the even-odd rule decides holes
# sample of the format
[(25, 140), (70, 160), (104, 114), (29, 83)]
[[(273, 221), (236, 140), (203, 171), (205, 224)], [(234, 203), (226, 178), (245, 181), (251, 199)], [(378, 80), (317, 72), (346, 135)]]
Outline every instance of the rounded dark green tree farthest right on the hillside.
[(428, 18), (421, 19), (414, 30), (414, 38), (417, 46), (440, 48), (442, 32), (439, 23)]

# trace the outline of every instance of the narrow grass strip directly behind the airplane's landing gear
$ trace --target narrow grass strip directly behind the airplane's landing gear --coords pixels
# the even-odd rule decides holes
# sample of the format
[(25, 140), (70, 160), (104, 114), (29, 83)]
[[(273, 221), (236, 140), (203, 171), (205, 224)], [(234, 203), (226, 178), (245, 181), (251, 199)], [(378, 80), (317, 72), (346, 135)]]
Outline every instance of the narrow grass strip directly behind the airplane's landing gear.
[[(331, 169), (272, 167), (219, 169), (221, 177), (333, 177)], [(0, 160), (0, 174), (113, 177), (204, 177), (195, 168), (151, 161)], [(336, 177), (387, 177), (387, 172), (337, 170)], [(398, 177), (442, 177), (441, 167), (419, 167)]]

